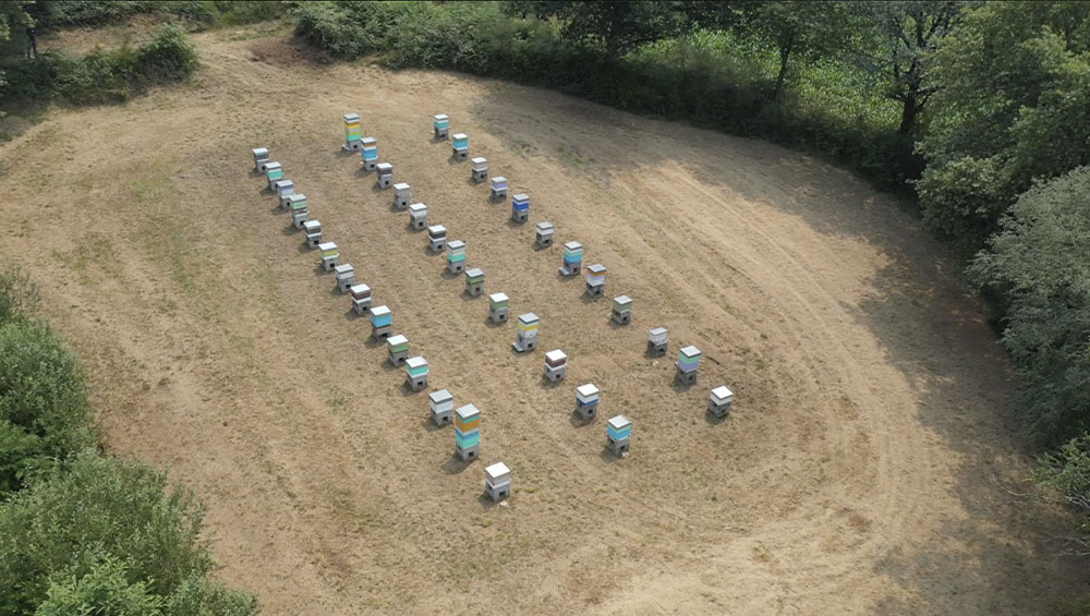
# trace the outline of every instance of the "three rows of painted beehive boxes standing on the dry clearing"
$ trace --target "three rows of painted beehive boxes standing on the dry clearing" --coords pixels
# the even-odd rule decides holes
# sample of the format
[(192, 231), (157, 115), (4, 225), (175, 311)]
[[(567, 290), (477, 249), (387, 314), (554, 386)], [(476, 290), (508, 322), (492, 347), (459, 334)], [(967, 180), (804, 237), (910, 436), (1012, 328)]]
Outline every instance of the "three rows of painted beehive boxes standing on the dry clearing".
[[(344, 116), (346, 144), (348, 150), (360, 150), (363, 165), (368, 170), (377, 171), (379, 188), (393, 188), (393, 205), (398, 209), (409, 209), (410, 225), (413, 229), (428, 229), (428, 244), (434, 252), (446, 247), (447, 268), (452, 273), (464, 271), (467, 278), (467, 291), (472, 295), (480, 295), (483, 292), (484, 273), (479, 268), (465, 270), (465, 244), (459, 240), (447, 241), (447, 230), (440, 225), (427, 226), (427, 207), (423, 203), (411, 204), (410, 186), (405, 183), (392, 182), (393, 167), (389, 162), (377, 162), (377, 142), (373, 137), (362, 137), (360, 130), (360, 119), (358, 114)], [(439, 114), (434, 118), (434, 130), (436, 140), (447, 137), (449, 119)], [(469, 138), (464, 134), (453, 136), (453, 156), (464, 160), (469, 155)], [(335, 271), (338, 288), (341, 292), (350, 292), (353, 310), (359, 314), (371, 313), (372, 336), (376, 339), (386, 338), (387, 351), (391, 364), (405, 364), (407, 383), (414, 391), (419, 391), (427, 386), (427, 362), (422, 357), (409, 358), (409, 339), (403, 335), (391, 336), (392, 315), (388, 306), (372, 307), (371, 288), (364, 283), (355, 283), (354, 269), (351, 265), (339, 263), (339, 251), (334, 242), (323, 242), (322, 226), (318, 220), (310, 218), (308, 204), (305, 195), (295, 193), (294, 183), (283, 177), (283, 171), (278, 162), (271, 161), (267, 148), (254, 150), (255, 167), (266, 172), (269, 189), (280, 198), (282, 209), (291, 212), (292, 224), (296, 229), (303, 230), (306, 243), (311, 247), (317, 247), (322, 252), (322, 265), (327, 270)], [(487, 179), (488, 167), (484, 158), (472, 160), (472, 178), (482, 182)], [(506, 198), (508, 182), (506, 178), (495, 177), (491, 179), (492, 198)], [(530, 198), (525, 194), (512, 196), (512, 219), (517, 222), (525, 222), (529, 217)], [(550, 222), (540, 222), (536, 226), (535, 242), (541, 247), (548, 247), (553, 243), (555, 227)], [(582, 263), (582, 245), (579, 242), (568, 242), (565, 244), (564, 263), (560, 274), (564, 276), (578, 275)], [(606, 268), (601, 264), (588, 267), (586, 293), (592, 298), (602, 297), (605, 288)], [(489, 295), (489, 317), (497, 323), (507, 321), (509, 311), (509, 299), (505, 293), (493, 293)], [(631, 321), (631, 299), (620, 295), (614, 300), (613, 318), (621, 325)], [(530, 351), (537, 346), (537, 329), (540, 319), (533, 313), (519, 316), (518, 333), (513, 347), (519, 352)], [(652, 329), (649, 333), (649, 352), (663, 354), (667, 349), (667, 330), (663, 327)], [(692, 384), (697, 381), (700, 367), (700, 351), (692, 346), (681, 349), (677, 362), (677, 377), (683, 384)], [(564, 378), (567, 371), (567, 354), (559, 349), (555, 349), (545, 354), (545, 376), (552, 382)], [(730, 409), (734, 395), (726, 386), (719, 386), (712, 390), (708, 400), (708, 410), (716, 416), (725, 416)], [(591, 383), (577, 388), (576, 395), (577, 410), (584, 421), (594, 419), (598, 404), (598, 388)], [(429, 395), (429, 409), (432, 419), (437, 425), (450, 423), (453, 416), (455, 423), (455, 449), (456, 454), (463, 460), (472, 460), (480, 452), (480, 411), (473, 404), (465, 404), (453, 409), (453, 397), (446, 390), (435, 391)], [(453, 415), (451, 414), (453, 413)], [(607, 443), (610, 449), (618, 456), (628, 451), (631, 440), (632, 421), (625, 415), (617, 415), (607, 422)], [(504, 462), (497, 462), (485, 469), (485, 485), (487, 493), (493, 499), (499, 500), (510, 495), (510, 470)]]

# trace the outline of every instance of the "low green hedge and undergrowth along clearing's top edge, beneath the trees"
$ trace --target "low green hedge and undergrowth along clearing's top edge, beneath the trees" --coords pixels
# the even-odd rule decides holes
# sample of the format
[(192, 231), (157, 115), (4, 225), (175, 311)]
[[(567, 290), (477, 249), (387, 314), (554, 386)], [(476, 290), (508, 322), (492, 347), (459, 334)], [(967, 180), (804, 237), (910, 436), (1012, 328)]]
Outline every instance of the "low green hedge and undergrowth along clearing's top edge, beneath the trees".
[[(897, 106), (884, 99), (881, 85), (844, 62), (812, 60), (812, 47), (800, 52), (811, 60), (800, 63), (796, 89), (770, 104), (779, 57), (760, 37), (695, 31), (610, 58), (595, 36), (572, 43), (570, 26), (559, 19), (559, 9), (591, 10), (584, 3), (560, 3), (548, 20), (512, 16), (534, 14), (531, 4), (512, 10), (492, 2), (305, 2), (294, 9), (295, 32), (332, 58), (373, 53), (392, 69), (502, 77), (816, 149), (883, 185), (904, 185), (918, 173), (910, 143), (896, 135)], [(686, 8), (668, 3), (670, 10), (678, 5)]]

